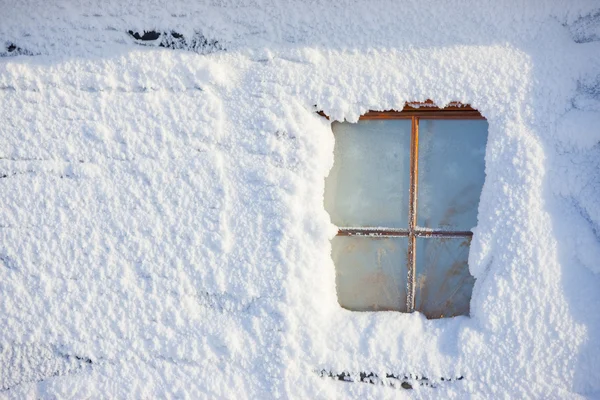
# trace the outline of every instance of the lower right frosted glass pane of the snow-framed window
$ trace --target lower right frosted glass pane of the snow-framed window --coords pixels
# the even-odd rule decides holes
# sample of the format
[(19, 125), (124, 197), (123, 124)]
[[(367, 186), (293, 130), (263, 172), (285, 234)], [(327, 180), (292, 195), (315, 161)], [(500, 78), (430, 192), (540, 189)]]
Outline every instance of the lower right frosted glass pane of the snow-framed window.
[(415, 308), (427, 318), (469, 315), (470, 238), (417, 238)]

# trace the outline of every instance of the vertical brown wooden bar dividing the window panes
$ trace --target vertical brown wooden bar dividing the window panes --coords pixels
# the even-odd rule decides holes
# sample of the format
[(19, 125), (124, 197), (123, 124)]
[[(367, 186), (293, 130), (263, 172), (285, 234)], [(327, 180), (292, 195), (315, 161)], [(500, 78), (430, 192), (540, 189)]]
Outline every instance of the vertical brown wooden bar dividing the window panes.
[(408, 203), (408, 277), (406, 290), (406, 311), (415, 311), (416, 291), (416, 261), (417, 261), (417, 237), (415, 228), (417, 226), (417, 194), (419, 180), (419, 118), (411, 118), (410, 138), (410, 193)]

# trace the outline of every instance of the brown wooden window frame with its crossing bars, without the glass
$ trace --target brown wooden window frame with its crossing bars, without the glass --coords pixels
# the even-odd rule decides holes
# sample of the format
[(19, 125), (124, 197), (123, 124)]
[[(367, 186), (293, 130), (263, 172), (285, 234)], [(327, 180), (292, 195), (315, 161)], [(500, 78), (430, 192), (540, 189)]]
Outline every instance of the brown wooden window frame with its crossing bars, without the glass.
[[(329, 119), (323, 112), (319, 112), (319, 115)], [(419, 121), (422, 119), (485, 120), (485, 117), (468, 104), (452, 102), (446, 107), (440, 108), (437, 107), (433, 101), (427, 100), (425, 102), (406, 103), (401, 111), (369, 111), (359, 118), (360, 121), (394, 119), (411, 120), (408, 229), (385, 227), (340, 227), (337, 236), (408, 238), (406, 312), (412, 313), (415, 311), (417, 238), (471, 238), (473, 236), (473, 232), (471, 231), (432, 229), (417, 226), (417, 204), (419, 197)]]

